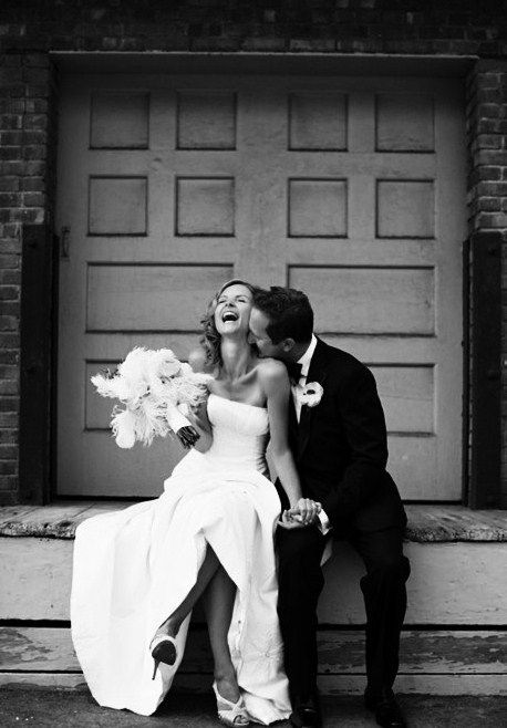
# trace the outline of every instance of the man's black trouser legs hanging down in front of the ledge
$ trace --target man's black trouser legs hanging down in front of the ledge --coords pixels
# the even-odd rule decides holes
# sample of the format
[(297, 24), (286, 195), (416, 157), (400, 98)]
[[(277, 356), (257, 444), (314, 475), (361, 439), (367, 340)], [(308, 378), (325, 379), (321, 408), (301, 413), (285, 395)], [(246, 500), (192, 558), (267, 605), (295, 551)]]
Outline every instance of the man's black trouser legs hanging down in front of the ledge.
[[(403, 531), (354, 532), (352, 545), (364, 561), (361, 590), (366, 610), (369, 689), (390, 689), (399, 667), (400, 632), (406, 610), (410, 563)], [(325, 539), (315, 527), (277, 532), (278, 614), (291, 698), (306, 700), (317, 689), (317, 604), (324, 580), (320, 561)]]

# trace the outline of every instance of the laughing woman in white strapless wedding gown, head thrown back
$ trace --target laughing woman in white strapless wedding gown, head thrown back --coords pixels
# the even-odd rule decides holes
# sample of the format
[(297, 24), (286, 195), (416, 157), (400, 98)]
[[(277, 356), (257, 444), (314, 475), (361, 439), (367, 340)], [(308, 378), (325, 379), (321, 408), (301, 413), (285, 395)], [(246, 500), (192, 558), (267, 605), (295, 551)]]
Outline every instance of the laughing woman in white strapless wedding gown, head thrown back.
[(273, 532), (280, 501), (266, 447), (300, 516), (288, 446), (286, 367), (248, 343), (254, 289), (226, 283), (204, 321), (195, 368), (214, 370), (207, 404), (194, 414), (195, 447), (152, 501), (84, 521), (76, 531), (71, 595), (74, 647), (100, 705), (151, 715), (183, 657), (192, 610), (203, 596), (220, 719), (270, 724), (290, 713), (277, 618)]

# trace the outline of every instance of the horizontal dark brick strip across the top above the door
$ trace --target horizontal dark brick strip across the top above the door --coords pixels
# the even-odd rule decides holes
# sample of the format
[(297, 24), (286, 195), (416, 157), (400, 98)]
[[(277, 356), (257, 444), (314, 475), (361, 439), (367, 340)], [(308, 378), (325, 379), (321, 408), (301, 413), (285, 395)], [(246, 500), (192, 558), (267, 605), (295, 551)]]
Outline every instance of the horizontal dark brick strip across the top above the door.
[(507, 53), (500, 0), (3, 0), (11, 48)]

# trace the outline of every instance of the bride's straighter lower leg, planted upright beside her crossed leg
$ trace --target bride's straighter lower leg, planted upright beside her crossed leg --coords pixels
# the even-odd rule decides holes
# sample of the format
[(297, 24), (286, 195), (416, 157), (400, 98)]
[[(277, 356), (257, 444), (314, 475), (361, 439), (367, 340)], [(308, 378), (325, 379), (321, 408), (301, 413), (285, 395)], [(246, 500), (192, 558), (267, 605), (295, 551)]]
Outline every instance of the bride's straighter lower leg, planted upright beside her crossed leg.
[(217, 689), (224, 698), (232, 703), (239, 699), (239, 688), (230, 658), (227, 634), (232, 617), (235, 596), (236, 584), (220, 564), (204, 593), (203, 601), (208, 622)]

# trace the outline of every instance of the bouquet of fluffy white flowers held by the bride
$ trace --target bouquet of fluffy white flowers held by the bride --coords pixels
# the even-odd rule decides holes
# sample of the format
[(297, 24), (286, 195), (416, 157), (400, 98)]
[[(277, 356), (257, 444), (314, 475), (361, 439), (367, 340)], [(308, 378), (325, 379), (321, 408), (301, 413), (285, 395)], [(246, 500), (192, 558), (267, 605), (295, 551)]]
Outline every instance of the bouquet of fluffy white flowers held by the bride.
[(195, 445), (199, 435), (185, 417), (189, 407), (206, 399), (209, 374), (193, 372), (176, 358), (170, 349), (132, 350), (114, 374), (95, 374), (91, 381), (103, 397), (120, 399), (111, 428), (123, 448), (134, 443), (151, 445), (155, 436), (175, 433), (185, 447)]

